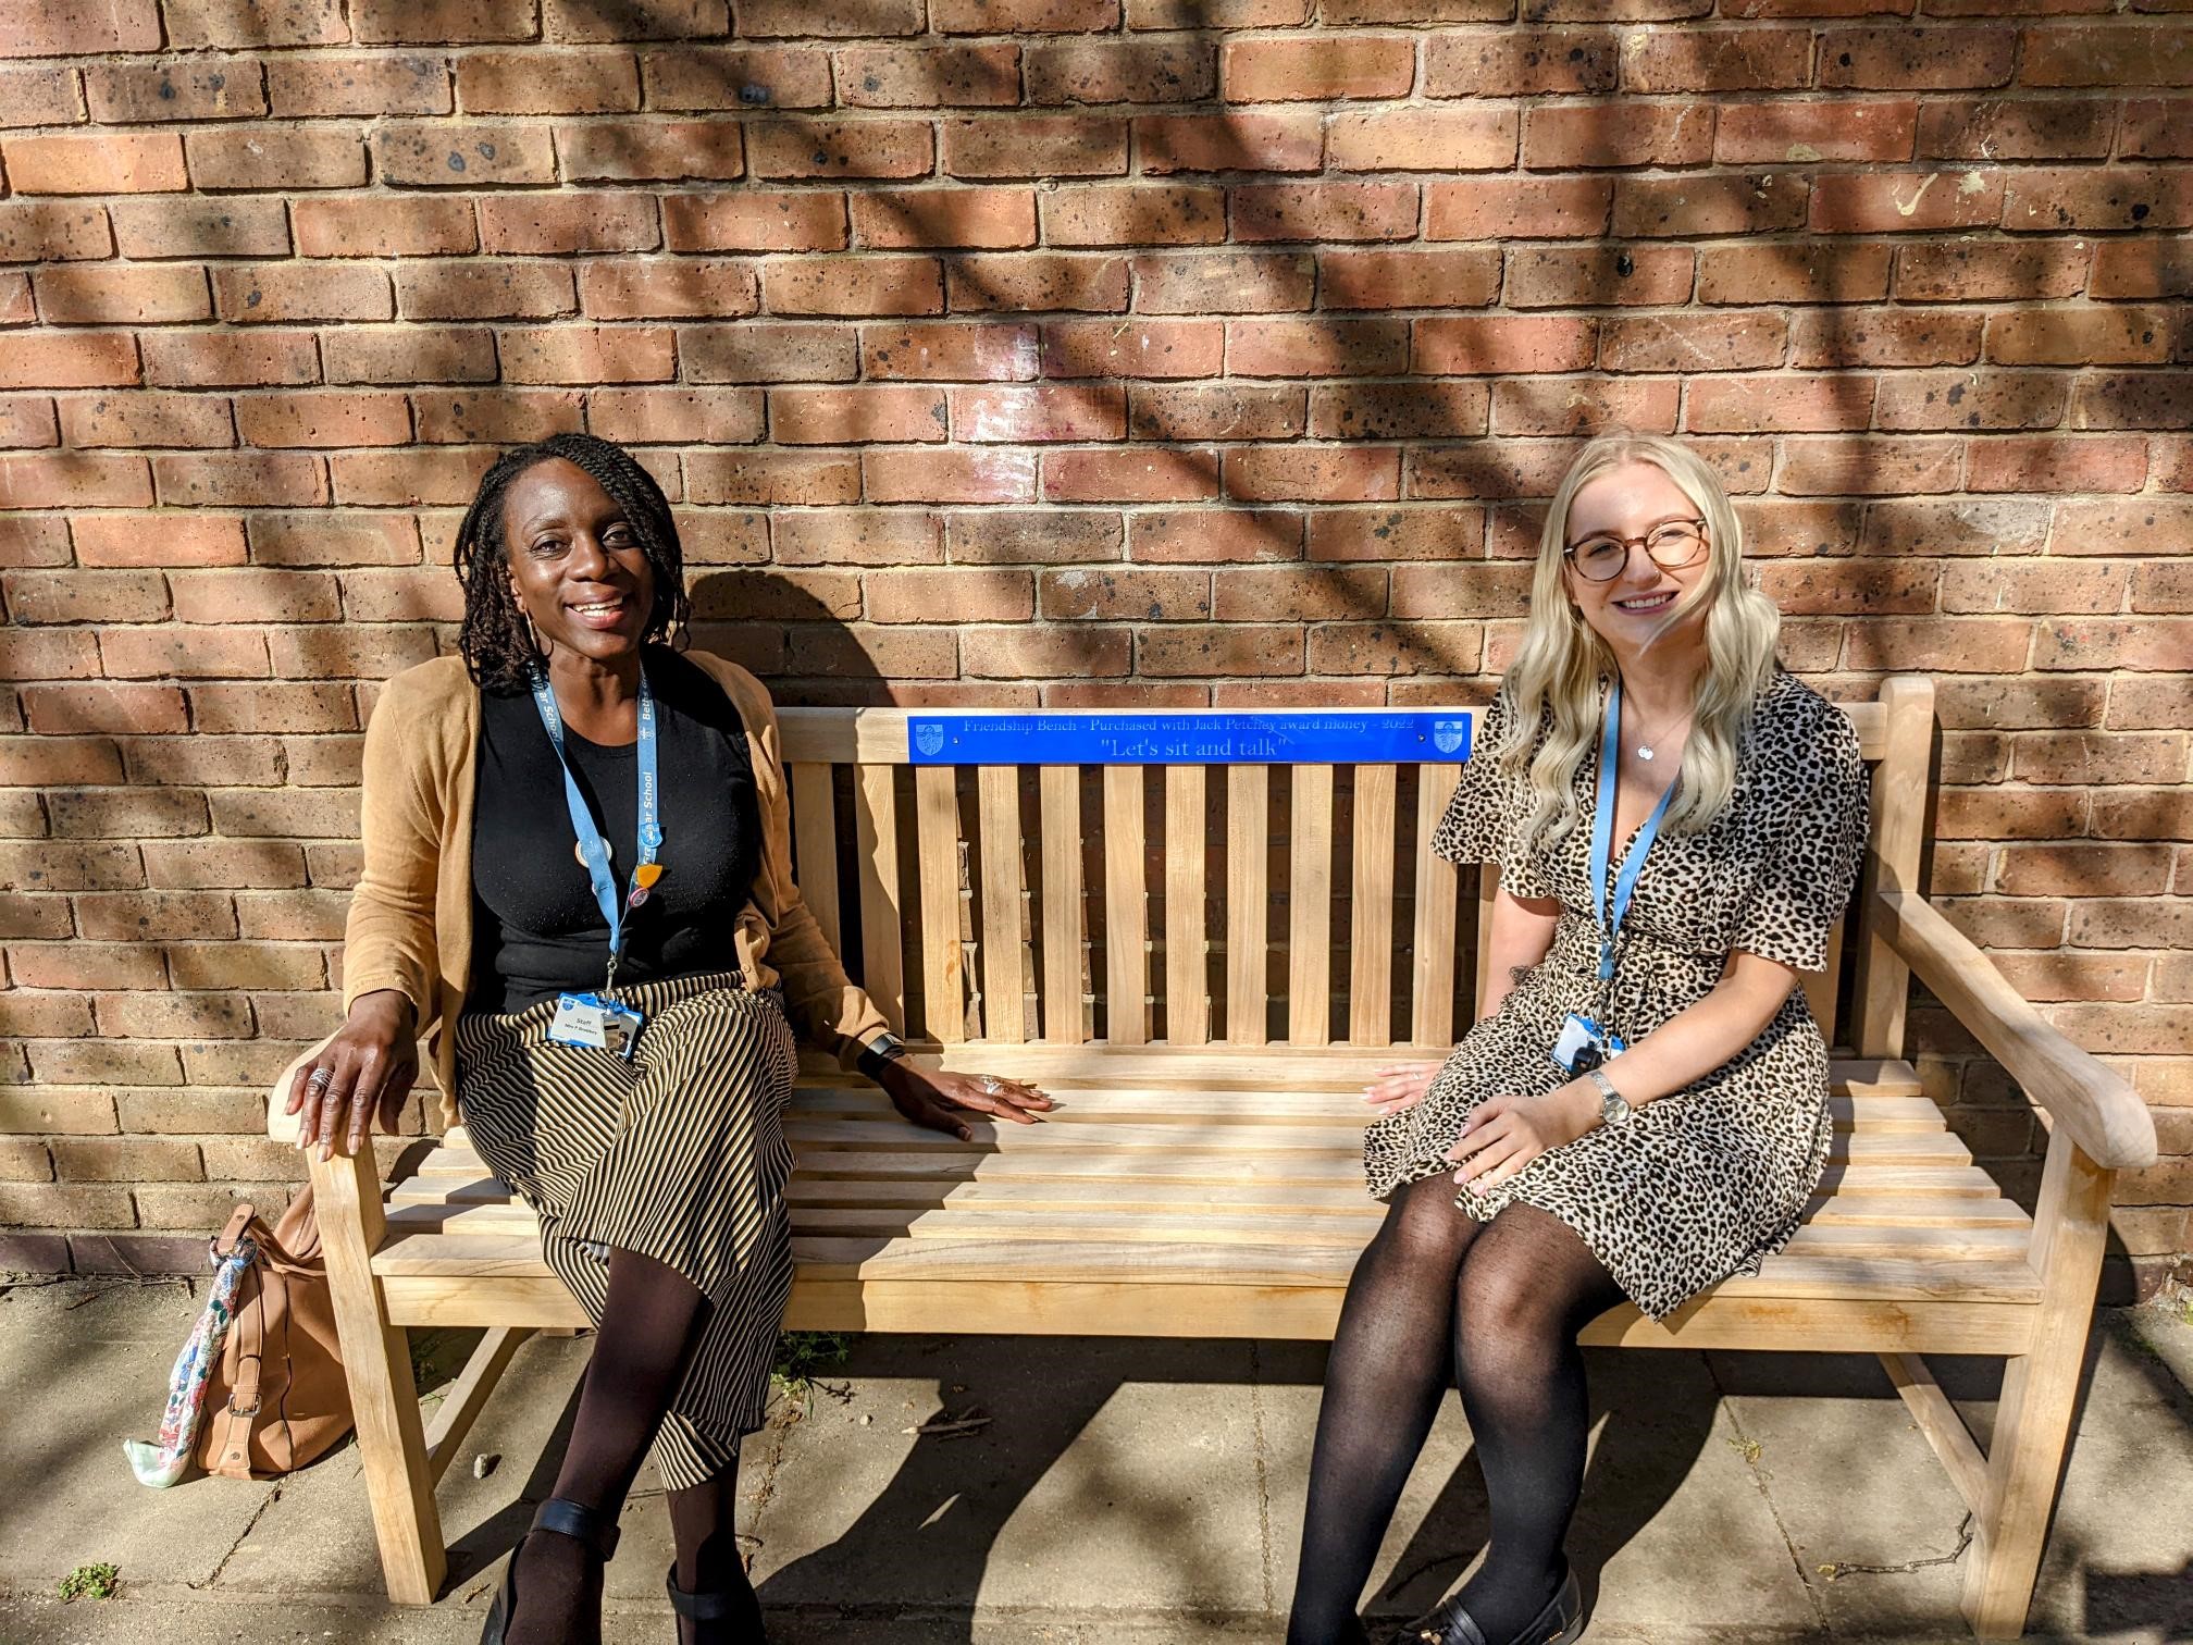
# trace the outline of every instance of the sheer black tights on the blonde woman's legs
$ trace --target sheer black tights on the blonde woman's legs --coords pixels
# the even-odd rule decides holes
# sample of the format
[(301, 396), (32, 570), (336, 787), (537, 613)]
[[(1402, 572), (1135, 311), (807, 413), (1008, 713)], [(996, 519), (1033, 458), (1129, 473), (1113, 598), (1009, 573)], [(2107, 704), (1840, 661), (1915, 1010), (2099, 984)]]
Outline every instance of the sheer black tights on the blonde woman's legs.
[(1491, 1544), (1463, 1588), (1504, 1645), (1553, 1599), (1583, 1487), (1577, 1331), (1621, 1301), (1590, 1246), (1529, 1204), (1480, 1224), (1454, 1176), (1414, 1182), (1349, 1279), (1325, 1371), (1287, 1645), (1357, 1641), (1355, 1601), (1447, 1384), (1463, 1393)]

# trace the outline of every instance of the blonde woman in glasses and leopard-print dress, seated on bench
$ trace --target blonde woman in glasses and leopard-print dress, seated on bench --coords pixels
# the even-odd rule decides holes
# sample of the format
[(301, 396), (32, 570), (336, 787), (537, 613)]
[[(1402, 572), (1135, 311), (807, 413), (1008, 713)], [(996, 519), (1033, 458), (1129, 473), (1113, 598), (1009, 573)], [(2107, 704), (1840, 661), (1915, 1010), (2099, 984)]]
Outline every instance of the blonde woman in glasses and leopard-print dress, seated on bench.
[(1776, 625), (1695, 452), (1583, 447), (1434, 838), (1500, 864), (1485, 1016), (1445, 1064), (1364, 1094), (1388, 1211), (1333, 1338), (1289, 1645), (1366, 1638), (1355, 1603), (1450, 1382), (1491, 1542), (1395, 1638), (1577, 1638), (1577, 1331), (1757, 1272), (1820, 1182), (1827, 1046), (1796, 980), (1851, 895), (1866, 783)]

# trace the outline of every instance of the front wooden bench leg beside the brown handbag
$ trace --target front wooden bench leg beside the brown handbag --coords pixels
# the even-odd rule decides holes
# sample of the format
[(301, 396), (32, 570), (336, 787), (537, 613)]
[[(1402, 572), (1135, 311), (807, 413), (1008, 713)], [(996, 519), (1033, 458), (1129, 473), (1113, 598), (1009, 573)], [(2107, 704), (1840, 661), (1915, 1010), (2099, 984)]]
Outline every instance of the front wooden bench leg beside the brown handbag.
[(419, 1386), (410, 1338), (388, 1323), (371, 1257), (382, 1244), (382, 1184), (368, 1147), (357, 1158), (311, 1160), (311, 1191), (336, 1303), (342, 1373), (357, 1417), (357, 1454), (366, 1465), (373, 1535), (382, 1577), (399, 1606), (430, 1606), (450, 1573), (428, 1472)]

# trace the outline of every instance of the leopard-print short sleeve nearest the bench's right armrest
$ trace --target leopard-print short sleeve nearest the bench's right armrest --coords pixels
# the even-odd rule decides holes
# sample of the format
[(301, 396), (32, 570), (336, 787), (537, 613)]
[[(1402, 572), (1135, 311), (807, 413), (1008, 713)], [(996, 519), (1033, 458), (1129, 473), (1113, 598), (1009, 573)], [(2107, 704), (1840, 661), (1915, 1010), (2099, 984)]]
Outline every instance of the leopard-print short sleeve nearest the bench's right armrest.
[(1851, 901), (1866, 851), (1866, 765), (1857, 730), (1820, 704), (1814, 735), (1785, 746), (1792, 761), (1783, 803), (1770, 801), (1757, 838), (1765, 862), (1737, 915), (1730, 948), (1798, 972), (1827, 965), (1827, 934)]

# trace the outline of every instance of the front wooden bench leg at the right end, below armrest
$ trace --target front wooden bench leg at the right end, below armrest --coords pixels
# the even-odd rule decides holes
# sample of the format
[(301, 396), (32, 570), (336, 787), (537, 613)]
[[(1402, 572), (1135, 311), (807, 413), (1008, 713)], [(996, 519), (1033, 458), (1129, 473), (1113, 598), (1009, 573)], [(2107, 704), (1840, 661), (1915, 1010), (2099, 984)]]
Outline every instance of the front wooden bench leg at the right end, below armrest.
[(2042, 1307), (2033, 1347), (2002, 1373), (1987, 1500), (1965, 1570), (1965, 1621), (1980, 1638), (2018, 1638), (2026, 1627), (2094, 1323), (2110, 1180), (2064, 1132), (2050, 1138), (2031, 1246)]

